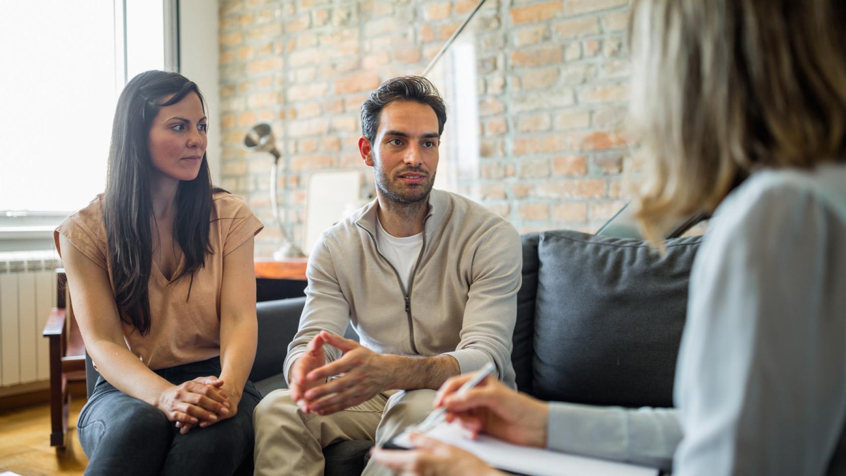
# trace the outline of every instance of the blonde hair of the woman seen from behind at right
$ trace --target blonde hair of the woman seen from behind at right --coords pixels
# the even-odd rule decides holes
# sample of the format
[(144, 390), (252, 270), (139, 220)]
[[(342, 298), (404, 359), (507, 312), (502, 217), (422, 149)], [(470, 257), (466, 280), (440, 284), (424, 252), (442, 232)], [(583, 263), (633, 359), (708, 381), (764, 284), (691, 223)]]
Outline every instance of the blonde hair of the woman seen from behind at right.
[(843, 0), (635, 0), (629, 35), (647, 238), (755, 170), (843, 161)]

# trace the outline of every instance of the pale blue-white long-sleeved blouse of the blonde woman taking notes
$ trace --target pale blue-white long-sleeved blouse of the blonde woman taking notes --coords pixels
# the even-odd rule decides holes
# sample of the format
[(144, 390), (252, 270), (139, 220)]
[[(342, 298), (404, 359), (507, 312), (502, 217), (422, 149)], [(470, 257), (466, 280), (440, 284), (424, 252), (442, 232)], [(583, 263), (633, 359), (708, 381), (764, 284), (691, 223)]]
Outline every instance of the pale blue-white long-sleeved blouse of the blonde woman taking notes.
[(553, 403), (547, 446), (676, 475), (846, 471), (846, 164), (757, 172), (690, 276), (676, 409)]

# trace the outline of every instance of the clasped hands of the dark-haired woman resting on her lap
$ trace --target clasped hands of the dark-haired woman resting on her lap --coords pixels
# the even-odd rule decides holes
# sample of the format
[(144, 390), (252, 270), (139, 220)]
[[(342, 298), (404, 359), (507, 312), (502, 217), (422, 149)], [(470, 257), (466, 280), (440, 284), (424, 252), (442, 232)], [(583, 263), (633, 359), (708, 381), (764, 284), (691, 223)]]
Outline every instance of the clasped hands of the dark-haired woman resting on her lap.
[(197, 377), (178, 386), (169, 386), (159, 396), (156, 407), (176, 422), (179, 433), (188, 433), (195, 426), (205, 428), (238, 413), (240, 392), (210, 375)]

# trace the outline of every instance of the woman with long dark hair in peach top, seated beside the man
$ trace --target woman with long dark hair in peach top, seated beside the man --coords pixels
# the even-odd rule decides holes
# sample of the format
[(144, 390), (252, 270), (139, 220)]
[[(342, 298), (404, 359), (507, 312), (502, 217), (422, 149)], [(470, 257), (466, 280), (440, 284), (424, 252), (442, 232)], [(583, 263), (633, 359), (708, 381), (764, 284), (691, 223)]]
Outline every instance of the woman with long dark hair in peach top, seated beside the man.
[(105, 194), (54, 233), (101, 375), (77, 425), (86, 474), (232, 474), (252, 457), (262, 225), (212, 188), (206, 129), (189, 79), (135, 76), (118, 99)]

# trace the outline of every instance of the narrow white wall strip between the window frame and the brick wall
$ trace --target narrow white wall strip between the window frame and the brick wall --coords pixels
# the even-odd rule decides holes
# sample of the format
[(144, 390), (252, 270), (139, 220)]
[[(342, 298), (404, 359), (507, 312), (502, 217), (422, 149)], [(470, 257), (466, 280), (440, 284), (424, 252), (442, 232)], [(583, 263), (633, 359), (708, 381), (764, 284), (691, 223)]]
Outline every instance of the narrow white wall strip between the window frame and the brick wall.
[(217, 74), (217, 2), (179, 0), (179, 72), (197, 85), (208, 103), (211, 180), (220, 183), (220, 85)]

